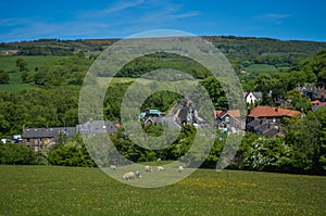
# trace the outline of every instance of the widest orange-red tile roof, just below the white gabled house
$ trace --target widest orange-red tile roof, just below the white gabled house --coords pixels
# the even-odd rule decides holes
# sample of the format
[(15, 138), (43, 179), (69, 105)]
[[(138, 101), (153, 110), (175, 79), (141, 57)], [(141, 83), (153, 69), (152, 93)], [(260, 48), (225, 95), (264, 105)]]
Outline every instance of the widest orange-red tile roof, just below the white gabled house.
[(288, 109), (277, 109), (273, 106), (256, 106), (250, 111), (247, 115), (248, 117), (292, 117), (298, 115), (299, 111), (288, 110)]

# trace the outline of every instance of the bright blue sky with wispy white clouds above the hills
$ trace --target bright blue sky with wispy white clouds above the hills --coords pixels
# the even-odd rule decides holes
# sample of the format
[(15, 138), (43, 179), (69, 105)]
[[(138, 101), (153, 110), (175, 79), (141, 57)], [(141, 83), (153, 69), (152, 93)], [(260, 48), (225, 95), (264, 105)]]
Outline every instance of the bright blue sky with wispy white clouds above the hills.
[(326, 41), (323, 0), (3, 0), (0, 41), (124, 38), (154, 30)]

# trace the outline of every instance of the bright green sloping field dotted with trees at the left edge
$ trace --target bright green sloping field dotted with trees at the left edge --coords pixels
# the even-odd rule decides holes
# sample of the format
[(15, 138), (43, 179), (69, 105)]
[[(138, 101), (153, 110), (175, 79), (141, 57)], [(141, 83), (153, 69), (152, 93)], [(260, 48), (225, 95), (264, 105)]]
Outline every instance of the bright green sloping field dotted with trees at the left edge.
[[(17, 71), (16, 67), (16, 59), (18, 56), (0, 56), (0, 69), (3, 69), (5, 72), (13, 72)], [(27, 67), (30, 72), (35, 71), (35, 67), (40, 67), (46, 64), (53, 63), (60, 59), (67, 58), (67, 56), (22, 56), (27, 62)], [(21, 73), (10, 73), (10, 80), (8, 85), (0, 85), (0, 91), (20, 91), (20, 90), (28, 90), (36, 88), (28, 84), (22, 84), (21, 80)]]

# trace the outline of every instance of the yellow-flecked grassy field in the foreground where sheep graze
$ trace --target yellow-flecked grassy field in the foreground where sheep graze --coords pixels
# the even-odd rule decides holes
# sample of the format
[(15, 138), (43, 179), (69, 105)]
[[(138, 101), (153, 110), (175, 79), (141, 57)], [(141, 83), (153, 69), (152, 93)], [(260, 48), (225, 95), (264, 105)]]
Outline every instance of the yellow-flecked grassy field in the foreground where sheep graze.
[(99, 168), (0, 166), (0, 215), (10, 216), (325, 215), (325, 192), (326, 177), (317, 176), (200, 169), (178, 183), (143, 189)]

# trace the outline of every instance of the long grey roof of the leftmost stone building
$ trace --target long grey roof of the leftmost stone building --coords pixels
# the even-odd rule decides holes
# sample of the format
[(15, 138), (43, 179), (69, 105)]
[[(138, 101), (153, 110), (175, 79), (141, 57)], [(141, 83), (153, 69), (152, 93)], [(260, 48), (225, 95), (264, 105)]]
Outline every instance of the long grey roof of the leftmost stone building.
[(23, 129), (23, 139), (36, 138), (55, 138), (60, 134), (72, 137), (76, 134), (75, 127), (46, 127), (46, 128), (25, 128)]

